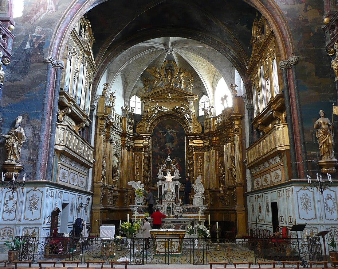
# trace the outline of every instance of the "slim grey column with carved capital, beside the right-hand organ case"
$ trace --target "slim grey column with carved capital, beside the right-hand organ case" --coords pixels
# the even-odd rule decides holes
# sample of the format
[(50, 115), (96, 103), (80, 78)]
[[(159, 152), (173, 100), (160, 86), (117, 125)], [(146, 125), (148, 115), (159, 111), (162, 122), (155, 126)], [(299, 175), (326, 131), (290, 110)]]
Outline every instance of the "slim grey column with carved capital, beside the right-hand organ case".
[(290, 64), (288, 61), (280, 61), (279, 69), (282, 70), (282, 77), (283, 77), (285, 110), (286, 110), (286, 119), (288, 122), (288, 134), (289, 134), (289, 143), (290, 143), (292, 178), (297, 179), (298, 169), (297, 169), (297, 158), (296, 158), (296, 149), (295, 149), (295, 141), (294, 141), (295, 138), (293, 135), (293, 122), (292, 122), (291, 102), (290, 102), (289, 82), (288, 82), (288, 72), (287, 72), (288, 68), (290, 68)]

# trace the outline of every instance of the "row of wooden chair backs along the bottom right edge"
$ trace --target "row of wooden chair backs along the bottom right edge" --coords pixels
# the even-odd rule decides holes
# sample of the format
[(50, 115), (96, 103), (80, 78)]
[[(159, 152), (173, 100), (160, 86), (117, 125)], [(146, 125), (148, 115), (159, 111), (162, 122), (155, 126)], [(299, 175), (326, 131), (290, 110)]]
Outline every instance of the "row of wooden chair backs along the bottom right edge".
[[(292, 265), (292, 266), (294, 266), (292, 268), (299, 269), (301, 261), (281, 261), (281, 263), (283, 264), (283, 268), (289, 268), (290, 265)], [(214, 265), (224, 265), (224, 268), (226, 268), (226, 265), (228, 264), (228, 262), (227, 261), (224, 261), (224, 262), (209, 262), (210, 269), (212, 269), (213, 264)], [(239, 265), (242, 265), (242, 266), (246, 265), (245, 268), (251, 268), (251, 264), (252, 264), (252, 262), (234, 262), (235, 268), (238, 268), (237, 266), (239, 266)], [(258, 261), (257, 264), (258, 264), (258, 268), (263, 268), (262, 266), (265, 266), (264, 268), (266, 268), (267, 266), (270, 266), (269, 268), (276, 268), (277, 261), (268, 261), (268, 262)], [(309, 265), (310, 265), (310, 268), (317, 268), (318, 265), (323, 265), (324, 268), (327, 268), (327, 267), (329, 267), (329, 262), (328, 261), (320, 261), (320, 262), (309, 261)], [(323, 267), (321, 267), (321, 268), (323, 268)]]

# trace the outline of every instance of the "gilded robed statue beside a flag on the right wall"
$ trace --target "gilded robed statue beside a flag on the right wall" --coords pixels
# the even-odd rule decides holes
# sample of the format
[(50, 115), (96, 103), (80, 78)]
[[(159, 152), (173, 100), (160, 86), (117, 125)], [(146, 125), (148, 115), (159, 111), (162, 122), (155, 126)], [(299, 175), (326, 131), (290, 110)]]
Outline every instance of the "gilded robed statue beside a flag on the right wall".
[(331, 123), (328, 118), (325, 118), (325, 112), (323, 110), (319, 111), (319, 116), (320, 118), (317, 119), (313, 127), (317, 129), (316, 136), (318, 139), (321, 160), (334, 159), (334, 141), (331, 132), (333, 123)]

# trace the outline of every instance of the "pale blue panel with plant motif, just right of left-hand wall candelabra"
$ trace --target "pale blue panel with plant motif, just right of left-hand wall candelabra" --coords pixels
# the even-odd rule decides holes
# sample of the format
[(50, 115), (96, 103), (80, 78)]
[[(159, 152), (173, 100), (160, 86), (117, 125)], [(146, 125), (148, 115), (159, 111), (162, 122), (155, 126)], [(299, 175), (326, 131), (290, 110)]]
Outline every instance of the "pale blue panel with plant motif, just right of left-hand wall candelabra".
[(41, 219), (42, 194), (42, 191), (37, 188), (32, 188), (26, 192), (24, 219)]

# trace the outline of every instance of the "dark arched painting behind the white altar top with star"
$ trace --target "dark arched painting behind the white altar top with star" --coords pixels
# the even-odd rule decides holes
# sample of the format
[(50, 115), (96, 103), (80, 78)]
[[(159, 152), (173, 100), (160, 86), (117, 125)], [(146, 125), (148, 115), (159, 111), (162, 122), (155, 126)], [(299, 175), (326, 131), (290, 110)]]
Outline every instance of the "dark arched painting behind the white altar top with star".
[(160, 166), (165, 164), (167, 156), (173, 160), (180, 175), (180, 182), (185, 181), (185, 131), (176, 120), (166, 119), (158, 123), (152, 132), (152, 181), (156, 183)]

